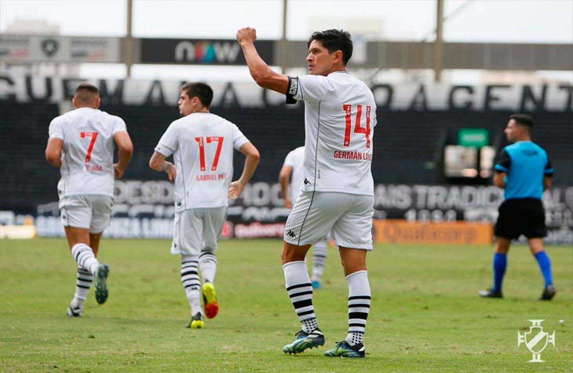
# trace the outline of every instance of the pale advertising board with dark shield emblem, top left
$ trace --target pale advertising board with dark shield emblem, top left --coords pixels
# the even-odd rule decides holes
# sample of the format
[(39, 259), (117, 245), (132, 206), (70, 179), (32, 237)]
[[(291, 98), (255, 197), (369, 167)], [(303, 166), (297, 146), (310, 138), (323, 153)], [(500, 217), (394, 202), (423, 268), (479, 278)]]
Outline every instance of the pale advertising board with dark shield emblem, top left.
[(120, 38), (0, 35), (7, 62), (120, 62)]

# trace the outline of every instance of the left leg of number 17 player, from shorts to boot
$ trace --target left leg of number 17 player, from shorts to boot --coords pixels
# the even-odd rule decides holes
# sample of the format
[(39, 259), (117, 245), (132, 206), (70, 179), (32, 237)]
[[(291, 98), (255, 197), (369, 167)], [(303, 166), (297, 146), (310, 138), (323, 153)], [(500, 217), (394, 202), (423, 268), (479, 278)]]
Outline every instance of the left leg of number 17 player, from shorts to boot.
[(171, 254), (180, 254), (180, 278), (185, 296), (191, 309), (191, 321), (187, 328), (203, 327), (201, 309), (201, 281), (199, 280), (199, 253), (203, 246), (203, 221), (195, 210), (175, 213), (173, 243)]

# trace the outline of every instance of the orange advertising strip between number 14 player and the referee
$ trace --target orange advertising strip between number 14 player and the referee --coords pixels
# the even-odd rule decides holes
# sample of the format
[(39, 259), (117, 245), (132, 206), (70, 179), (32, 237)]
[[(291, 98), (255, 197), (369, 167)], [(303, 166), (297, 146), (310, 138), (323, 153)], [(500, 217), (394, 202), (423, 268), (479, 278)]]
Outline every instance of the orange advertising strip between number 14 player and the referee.
[(493, 242), (491, 223), (422, 223), (401, 219), (375, 219), (374, 241), (394, 244), (489, 245)]

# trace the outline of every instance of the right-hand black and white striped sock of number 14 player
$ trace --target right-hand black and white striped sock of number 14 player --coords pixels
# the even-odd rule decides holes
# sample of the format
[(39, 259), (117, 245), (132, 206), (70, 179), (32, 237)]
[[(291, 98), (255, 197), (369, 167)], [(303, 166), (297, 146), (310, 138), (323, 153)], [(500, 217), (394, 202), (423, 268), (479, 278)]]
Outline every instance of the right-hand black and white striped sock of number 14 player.
[(368, 272), (359, 270), (346, 276), (348, 282), (348, 335), (350, 345), (362, 343), (366, 319), (370, 313), (370, 283)]

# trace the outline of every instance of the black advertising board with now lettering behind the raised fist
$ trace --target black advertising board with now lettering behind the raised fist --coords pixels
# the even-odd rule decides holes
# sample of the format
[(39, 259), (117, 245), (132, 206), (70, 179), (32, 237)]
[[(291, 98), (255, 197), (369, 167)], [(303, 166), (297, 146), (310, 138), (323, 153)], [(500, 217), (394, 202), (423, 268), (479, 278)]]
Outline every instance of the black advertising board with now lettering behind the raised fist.
[[(144, 64), (246, 65), (236, 40), (141, 39)], [(269, 65), (274, 64), (274, 42), (256, 41), (257, 52)]]

